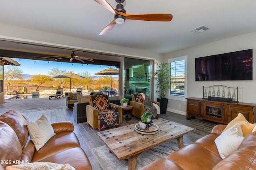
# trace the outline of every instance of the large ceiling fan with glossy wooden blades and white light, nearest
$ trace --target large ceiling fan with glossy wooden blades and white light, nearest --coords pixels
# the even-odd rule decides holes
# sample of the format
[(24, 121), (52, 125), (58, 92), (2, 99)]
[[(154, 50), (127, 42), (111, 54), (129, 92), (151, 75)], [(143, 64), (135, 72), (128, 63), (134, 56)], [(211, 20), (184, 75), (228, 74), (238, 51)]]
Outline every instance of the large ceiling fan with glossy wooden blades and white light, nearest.
[(171, 21), (172, 14), (126, 14), (124, 6), (121, 4), (124, 0), (116, 0), (116, 9), (106, 0), (94, 0), (98, 4), (102, 5), (104, 8), (108, 9), (112, 14), (114, 14), (114, 20), (107, 25), (101, 32), (100, 35), (106, 35), (109, 31), (116, 25), (116, 23), (124, 23), (125, 20), (144, 20), (144, 21)]

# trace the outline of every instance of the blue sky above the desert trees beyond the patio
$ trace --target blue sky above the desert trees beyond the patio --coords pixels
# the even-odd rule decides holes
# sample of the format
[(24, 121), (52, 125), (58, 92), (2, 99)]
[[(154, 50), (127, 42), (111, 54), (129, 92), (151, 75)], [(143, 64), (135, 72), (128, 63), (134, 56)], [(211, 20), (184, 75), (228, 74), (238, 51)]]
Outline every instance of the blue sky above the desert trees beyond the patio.
[[(52, 68), (58, 68), (60, 70), (66, 70), (67, 72), (71, 71), (74, 73), (78, 72), (84, 72), (85, 70), (88, 71), (91, 76), (101, 76), (101, 75), (95, 75), (94, 73), (99, 72), (101, 70), (104, 70), (106, 68), (109, 68), (110, 66), (100, 66), (100, 65), (92, 65), (92, 64), (78, 64), (78, 63), (62, 63), (60, 62), (54, 62), (50, 61), (38, 61), (36, 62), (34, 60), (26, 60), (26, 59), (14, 59), (13, 60), (17, 61), (20, 63), (20, 66), (18, 66), (22, 71), (23, 74), (44, 74), (47, 75), (48, 71), (52, 70)], [(112, 66), (112, 68), (116, 68), (115, 66)], [(118, 68), (116, 68), (118, 69)], [(118, 76), (118, 75), (113, 75), (113, 76)]]

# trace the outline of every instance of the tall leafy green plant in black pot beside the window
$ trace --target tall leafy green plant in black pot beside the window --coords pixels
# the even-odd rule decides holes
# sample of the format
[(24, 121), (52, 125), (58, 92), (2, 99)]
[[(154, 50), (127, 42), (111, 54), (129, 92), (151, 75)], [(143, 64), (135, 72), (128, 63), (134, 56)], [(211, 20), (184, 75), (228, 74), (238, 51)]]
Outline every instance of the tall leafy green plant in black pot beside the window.
[(156, 63), (157, 70), (154, 73), (156, 80), (156, 93), (158, 94), (157, 101), (160, 103), (160, 113), (166, 114), (168, 98), (167, 92), (170, 89), (170, 64), (169, 63)]

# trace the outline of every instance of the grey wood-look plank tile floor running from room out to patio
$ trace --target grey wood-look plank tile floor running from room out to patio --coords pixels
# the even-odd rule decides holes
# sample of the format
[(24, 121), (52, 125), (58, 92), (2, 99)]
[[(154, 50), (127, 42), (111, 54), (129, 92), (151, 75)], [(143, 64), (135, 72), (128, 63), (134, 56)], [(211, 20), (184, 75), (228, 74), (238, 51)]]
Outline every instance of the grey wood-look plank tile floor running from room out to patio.
[[(76, 133), (82, 149), (86, 152), (93, 170), (100, 170), (96, 160), (94, 159), (91, 150), (103, 146), (102, 141), (97, 137), (98, 129), (92, 129), (87, 123), (76, 123), (73, 119), (73, 110), (66, 107), (66, 99), (59, 100), (52, 98), (33, 98), (20, 100), (6, 100), (4, 104), (0, 105), (0, 115), (8, 110), (16, 110), (24, 114), (30, 121), (36, 121), (41, 115), (46, 115), (51, 123), (58, 121), (71, 121), (74, 124), (74, 133)], [(195, 130), (192, 133), (184, 135), (184, 143), (191, 144), (197, 139), (204, 137), (211, 133), (212, 128), (216, 125), (213, 122), (207, 122), (202, 119), (186, 120), (185, 115), (180, 115), (167, 111), (166, 114), (160, 115), (161, 118), (174, 121)], [(138, 123), (139, 118), (133, 117), (132, 120), (126, 122), (122, 120), (121, 126)], [(113, 127), (115, 128), (115, 127)]]

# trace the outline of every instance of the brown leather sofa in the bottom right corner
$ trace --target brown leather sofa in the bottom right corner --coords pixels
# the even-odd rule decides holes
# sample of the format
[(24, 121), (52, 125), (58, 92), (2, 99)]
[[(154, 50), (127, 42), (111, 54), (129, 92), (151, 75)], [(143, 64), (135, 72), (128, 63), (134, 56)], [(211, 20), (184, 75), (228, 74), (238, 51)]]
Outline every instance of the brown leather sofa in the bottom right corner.
[(216, 125), (210, 135), (140, 170), (255, 170), (256, 131), (247, 135), (238, 149), (222, 160), (214, 140), (225, 127), (226, 125)]

